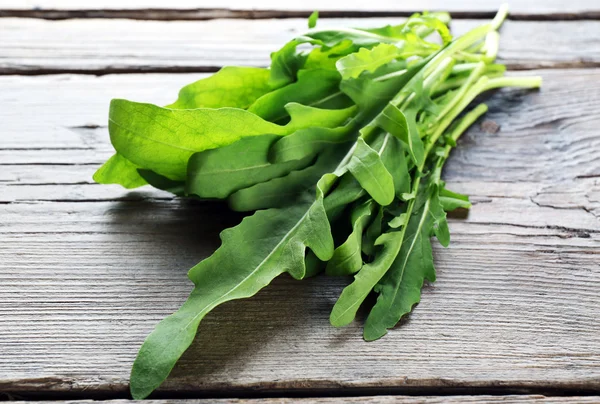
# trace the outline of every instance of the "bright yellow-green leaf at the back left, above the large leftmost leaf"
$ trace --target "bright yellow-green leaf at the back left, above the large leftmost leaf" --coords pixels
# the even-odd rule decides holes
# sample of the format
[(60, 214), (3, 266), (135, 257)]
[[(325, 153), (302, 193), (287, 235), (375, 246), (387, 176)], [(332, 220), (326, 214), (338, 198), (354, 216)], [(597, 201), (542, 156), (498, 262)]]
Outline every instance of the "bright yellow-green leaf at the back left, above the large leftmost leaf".
[(188, 84), (179, 91), (171, 109), (248, 108), (271, 91), (270, 72), (258, 67), (227, 66), (205, 79)]

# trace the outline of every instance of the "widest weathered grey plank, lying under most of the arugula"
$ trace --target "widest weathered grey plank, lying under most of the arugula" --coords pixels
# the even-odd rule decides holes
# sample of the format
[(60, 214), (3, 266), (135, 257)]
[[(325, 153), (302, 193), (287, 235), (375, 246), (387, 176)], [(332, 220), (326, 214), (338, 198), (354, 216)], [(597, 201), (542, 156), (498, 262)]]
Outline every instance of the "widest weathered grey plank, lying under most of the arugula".
[[(452, 155), (445, 179), (474, 206), (400, 327), (365, 343), (364, 312), (329, 325), (347, 279), (282, 277), (207, 316), (162, 394), (600, 391), (600, 71), (537, 73), (540, 92), (495, 94)], [(0, 391), (125, 397), (187, 269), (240, 220), (89, 181), (110, 97), (166, 104), (195, 77), (0, 77)]]

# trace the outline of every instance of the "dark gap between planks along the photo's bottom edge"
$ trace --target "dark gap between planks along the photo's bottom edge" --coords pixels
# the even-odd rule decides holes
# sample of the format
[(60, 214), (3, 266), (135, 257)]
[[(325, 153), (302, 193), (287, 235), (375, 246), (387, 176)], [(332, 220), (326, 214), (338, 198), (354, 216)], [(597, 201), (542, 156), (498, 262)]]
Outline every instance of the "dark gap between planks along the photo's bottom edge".
[[(39, 381), (32, 380), (34, 384), (27, 384), (27, 390), (3, 389), (0, 400), (27, 402), (30, 404), (54, 402), (55, 404), (71, 404), (71, 400), (105, 401), (110, 403), (133, 403), (128, 386), (107, 386), (107, 389), (77, 389), (76, 382), (65, 379), (45, 378)], [(35, 383), (39, 384), (35, 384)], [(311, 387), (309, 383), (304, 387), (270, 389), (268, 386), (256, 388), (227, 388), (225, 390), (188, 390), (188, 389), (160, 389), (154, 392), (149, 399), (150, 404), (176, 404), (180, 402), (203, 404), (210, 400), (214, 404), (288, 404), (288, 403), (335, 403), (340, 399), (344, 402), (373, 402), (373, 403), (447, 403), (447, 402), (502, 402), (522, 403), (534, 401), (536, 403), (597, 403), (600, 398), (600, 389), (582, 388), (581, 386), (548, 385), (546, 387), (528, 386), (527, 384), (492, 383), (489, 386), (436, 386), (436, 387), (340, 387), (335, 383), (330, 387)], [(32, 389), (35, 386), (36, 390)], [(44, 390), (43, 386), (51, 386)], [(64, 389), (70, 386), (71, 389)], [(54, 390), (55, 387), (59, 389)], [(73, 388), (75, 387), (75, 388)], [(0, 383), (2, 388), (2, 383)], [(168, 400), (168, 401), (167, 401)], [(176, 400), (175, 402), (172, 400)]]

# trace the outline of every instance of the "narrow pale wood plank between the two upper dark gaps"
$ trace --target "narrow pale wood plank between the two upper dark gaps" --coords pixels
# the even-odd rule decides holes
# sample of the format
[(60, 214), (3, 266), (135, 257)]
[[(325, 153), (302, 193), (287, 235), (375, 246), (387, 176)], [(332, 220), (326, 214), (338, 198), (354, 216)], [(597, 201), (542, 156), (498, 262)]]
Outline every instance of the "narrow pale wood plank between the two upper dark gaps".
[[(331, 19), (322, 25), (381, 26), (398, 21)], [(480, 24), (481, 20), (455, 20), (453, 31), (460, 35)], [(305, 30), (306, 21), (300, 19), (3, 19), (0, 74), (182, 72), (216, 70), (224, 65), (267, 66), (274, 49)], [(502, 30), (499, 61), (514, 69), (600, 66), (600, 21), (508, 21)]]

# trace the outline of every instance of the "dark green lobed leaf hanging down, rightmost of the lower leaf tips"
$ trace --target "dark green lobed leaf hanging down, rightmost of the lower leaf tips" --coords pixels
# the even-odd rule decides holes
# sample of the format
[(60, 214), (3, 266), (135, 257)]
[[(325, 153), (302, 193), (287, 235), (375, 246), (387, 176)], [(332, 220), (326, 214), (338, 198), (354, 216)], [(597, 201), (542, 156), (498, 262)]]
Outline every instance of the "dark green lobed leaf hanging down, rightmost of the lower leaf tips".
[(435, 234), (444, 246), (450, 241), (437, 185), (421, 186), (413, 203), (408, 224), (401, 231), (400, 253), (375, 287), (379, 297), (365, 322), (367, 341), (381, 338), (412, 310), (421, 298), (425, 279), (435, 281), (430, 237)]

